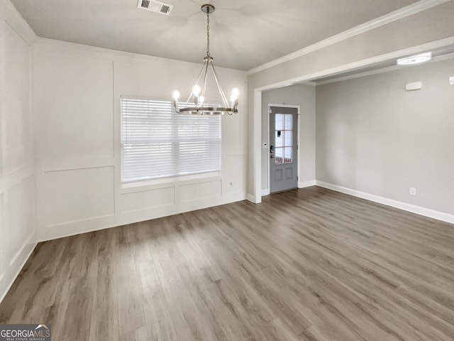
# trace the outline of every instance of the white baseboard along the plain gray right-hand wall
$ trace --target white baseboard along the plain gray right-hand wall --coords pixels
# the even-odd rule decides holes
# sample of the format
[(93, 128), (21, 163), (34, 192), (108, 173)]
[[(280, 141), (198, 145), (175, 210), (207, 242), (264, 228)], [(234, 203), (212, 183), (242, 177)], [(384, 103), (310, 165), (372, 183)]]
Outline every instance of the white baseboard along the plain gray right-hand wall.
[(354, 197), (361, 197), (362, 199), (378, 202), (383, 205), (399, 208), (400, 210), (416, 213), (416, 215), (423, 215), (424, 217), (429, 217), (436, 220), (441, 220), (443, 222), (449, 222), (450, 224), (454, 224), (454, 215), (450, 215), (445, 212), (431, 210), (430, 208), (411, 205), (407, 202), (392, 200), (387, 197), (380, 197), (380, 195), (373, 195), (370, 193), (361, 192), (359, 190), (353, 190), (351, 188), (333, 185), (332, 183), (324, 183), (323, 181), (319, 180), (316, 180), (316, 185), (323, 188), (328, 188), (328, 190), (336, 190), (336, 192), (353, 195)]

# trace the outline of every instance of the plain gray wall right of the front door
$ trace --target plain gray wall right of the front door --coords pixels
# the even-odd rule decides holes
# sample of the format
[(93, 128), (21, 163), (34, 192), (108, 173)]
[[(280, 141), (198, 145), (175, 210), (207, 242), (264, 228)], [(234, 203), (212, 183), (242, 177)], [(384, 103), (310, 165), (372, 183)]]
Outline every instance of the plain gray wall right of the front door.
[(454, 214), (453, 75), (450, 59), (317, 86), (317, 180)]

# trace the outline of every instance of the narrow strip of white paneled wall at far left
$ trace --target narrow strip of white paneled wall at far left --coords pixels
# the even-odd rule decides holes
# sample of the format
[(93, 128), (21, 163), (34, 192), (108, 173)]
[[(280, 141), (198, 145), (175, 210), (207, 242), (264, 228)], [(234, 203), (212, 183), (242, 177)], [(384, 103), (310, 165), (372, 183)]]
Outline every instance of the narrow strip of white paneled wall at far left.
[(0, 1), (0, 301), (35, 247), (31, 118), (35, 34)]

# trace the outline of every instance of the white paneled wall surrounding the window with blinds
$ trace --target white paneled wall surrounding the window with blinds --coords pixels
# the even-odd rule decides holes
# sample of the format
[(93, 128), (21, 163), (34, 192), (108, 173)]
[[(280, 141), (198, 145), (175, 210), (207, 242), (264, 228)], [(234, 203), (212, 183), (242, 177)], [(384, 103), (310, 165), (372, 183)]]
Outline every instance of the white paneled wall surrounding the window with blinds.
[(122, 187), (121, 95), (170, 99), (200, 65), (41, 38), (34, 63), (38, 240), (245, 199), (245, 72), (217, 70), (243, 98), (222, 117), (220, 174)]

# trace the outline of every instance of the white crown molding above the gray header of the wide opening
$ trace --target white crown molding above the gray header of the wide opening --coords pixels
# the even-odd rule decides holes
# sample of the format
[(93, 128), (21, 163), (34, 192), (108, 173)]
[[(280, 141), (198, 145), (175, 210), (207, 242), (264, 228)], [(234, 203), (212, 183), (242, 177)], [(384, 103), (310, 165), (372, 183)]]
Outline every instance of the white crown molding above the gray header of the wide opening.
[(322, 48), (326, 48), (329, 45), (339, 43), (342, 40), (351, 38), (353, 36), (358, 36), (358, 34), (360, 33), (370, 31), (374, 28), (386, 25), (387, 23), (392, 23), (393, 21), (405, 18), (406, 16), (411, 16), (421, 11), (425, 11), (426, 9), (431, 9), (432, 7), (444, 4), (448, 1), (451, 0), (420, 0), (415, 4), (405, 6), (402, 9), (398, 9), (397, 11), (393, 11), (391, 13), (385, 14), (384, 16), (380, 16), (379, 18), (367, 21), (367, 23), (362, 23), (358, 26), (348, 29), (347, 31), (338, 33), (335, 36), (320, 40), (318, 43), (309, 45), (306, 48), (301, 48), (301, 50), (297, 50), (295, 52), (289, 53), (288, 55), (284, 55), (281, 58), (277, 58), (258, 67), (254, 67), (253, 69), (248, 70), (246, 73), (247, 75), (253, 75), (254, 73), (267, 70), (270, 67), (288, 62), (289, 60), (294, 60), (295, 58), (299, 58), (302, 55), (312, 53), (316, 50), (321, 50)]

